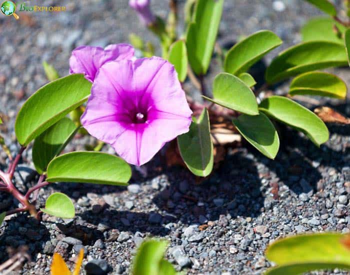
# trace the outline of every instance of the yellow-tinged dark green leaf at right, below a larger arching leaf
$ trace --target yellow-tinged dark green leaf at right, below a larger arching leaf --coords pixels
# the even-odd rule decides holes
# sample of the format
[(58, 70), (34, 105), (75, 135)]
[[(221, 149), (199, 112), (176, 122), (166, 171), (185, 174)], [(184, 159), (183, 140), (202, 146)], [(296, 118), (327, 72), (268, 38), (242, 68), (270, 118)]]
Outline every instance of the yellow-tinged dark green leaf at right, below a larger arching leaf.
[(291, 81), (289, 94), (320, 95), (344, 99), (346, 90), (346, 84), (336, 75), (311, 71), (300, 74)]

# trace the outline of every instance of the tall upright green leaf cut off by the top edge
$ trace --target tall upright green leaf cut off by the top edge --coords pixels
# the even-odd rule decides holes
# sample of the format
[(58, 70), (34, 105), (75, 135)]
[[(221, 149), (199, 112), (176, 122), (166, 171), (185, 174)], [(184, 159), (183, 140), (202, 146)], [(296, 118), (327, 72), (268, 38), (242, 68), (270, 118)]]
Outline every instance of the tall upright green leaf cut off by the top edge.
[(223, 0), (198, 0), (194, 22), (189, 24), (186, 46), (188, 61), (197, 75), (206, 73), (216, 42)]

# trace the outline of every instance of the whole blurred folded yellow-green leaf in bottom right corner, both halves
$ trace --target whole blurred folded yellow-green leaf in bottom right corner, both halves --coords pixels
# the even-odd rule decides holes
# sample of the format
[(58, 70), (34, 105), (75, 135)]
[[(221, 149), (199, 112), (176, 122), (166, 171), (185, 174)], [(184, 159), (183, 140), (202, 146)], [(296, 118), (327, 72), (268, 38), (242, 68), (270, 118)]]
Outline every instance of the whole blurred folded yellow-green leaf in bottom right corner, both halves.
[(341, 268), (350, 270), (348, 235), (316, 233), (286, 237), (273, 242), (266, 257), (279, 266), (266, 274), (300, 274), (306, 271)]

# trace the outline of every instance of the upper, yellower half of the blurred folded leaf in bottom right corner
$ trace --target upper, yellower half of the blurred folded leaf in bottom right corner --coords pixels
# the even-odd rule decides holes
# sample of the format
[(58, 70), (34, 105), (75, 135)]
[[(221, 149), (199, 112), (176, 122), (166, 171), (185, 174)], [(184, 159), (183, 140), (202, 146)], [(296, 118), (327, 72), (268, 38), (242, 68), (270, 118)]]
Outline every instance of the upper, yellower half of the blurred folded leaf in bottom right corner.
[(350, 249), (338, 233), (314, 233), (290, 236), (273, 242), (266, 249), (266, 257), (276, 264), (341, 263), (350, 264)]

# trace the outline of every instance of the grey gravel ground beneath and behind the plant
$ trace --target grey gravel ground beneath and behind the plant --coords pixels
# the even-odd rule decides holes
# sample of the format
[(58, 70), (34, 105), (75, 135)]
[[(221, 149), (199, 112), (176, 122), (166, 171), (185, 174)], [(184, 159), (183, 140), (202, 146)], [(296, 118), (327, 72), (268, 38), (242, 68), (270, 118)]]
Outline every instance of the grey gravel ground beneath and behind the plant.
[[(0, 110), (6, 122), (1, 132), (13, 152), (18, 149), (13, 136), (16, 112), (46, 82), (43, 60), (66, 75), (75, 46), (126, 42), (130, 31), (155, 41), (126, 0), (59, 2), (69, 11), (19, 12), (18, 21), (0, 16)], [(284, 3), (284, 9), (276, 2)], [(157, 14), (166, 14), (166, 6), (166, 1), (152, 1)], [(219, 43), (229, 45), (240, 35), (266, 28), (284, 40), (281, 50), (300, 41), (300, 26), (317, 14), (301, 0), (226, 0)], [(218, 70), (214, 63), (208, 83)], [(350, 79), (347, 68), (332, 71)], [(190, 84), (186, 86), (193, 90)], [(275, 87), (276, 93), (285, 90), (285, 84)], [(344, 101), (330, 100), (328, 105), (350, 115)], [(83, 247), (84, 272), (122, 274), (128, 272), (137, 245), (146, 237), (159, 236), (170, 242), (169, 260), (189, 274), (261, 273), (270, 266), (264, 249), (276, 238), (306, 231), (350, 232), (350, 128), (329, 125), (329, 129), (329, 141), (317, 148), (281, 126), (281, 149), (274, 161), (243, 143), (229, 149), (224, 163), (201, 184), (183, 168), (164, 167), (157, 156), (133, 170), (127, 188), (75, 183), (47, 186), (40, 191), (38, 203), (43, 205), (51, 192), (62, 191), (72, 197), (76, 217), (61, 220), (44, 215), (41, 223), (24, 214), (7, 218), (0, 228), (1, 261), (8, 257), (6, 247), (25, 244), (32, 261), (25, 263), (22, 273), (44, 274), (49, 272), (54, 251), (73, 266), (76, 251)], [(75, 138), (67, 150), (83, 149), (86, 142), (93, 139)], [(113, 152), (107, 146), (103, 150)], [(4, 158), (1, 152), (1, 168), (6, 166)], [(37, 178), (30, 160), (29, 148), (15, 174), (23, 190)], [(0, 194), (0, 211), (16, 204)]]

